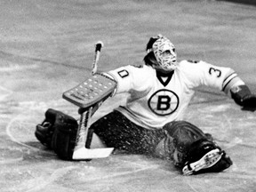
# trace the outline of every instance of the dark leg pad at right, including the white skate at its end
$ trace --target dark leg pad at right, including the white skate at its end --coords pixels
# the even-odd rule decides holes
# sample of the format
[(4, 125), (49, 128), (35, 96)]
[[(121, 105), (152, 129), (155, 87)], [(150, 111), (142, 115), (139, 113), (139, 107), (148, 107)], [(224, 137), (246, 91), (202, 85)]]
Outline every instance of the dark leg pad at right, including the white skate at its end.
[(221, 172), (232, 161), (214, 142), (212, 135), (204, 133), (194, 124), (176, 121), (164, 125), (173, 139), (173, 160), (184, 175), (202, 172)]

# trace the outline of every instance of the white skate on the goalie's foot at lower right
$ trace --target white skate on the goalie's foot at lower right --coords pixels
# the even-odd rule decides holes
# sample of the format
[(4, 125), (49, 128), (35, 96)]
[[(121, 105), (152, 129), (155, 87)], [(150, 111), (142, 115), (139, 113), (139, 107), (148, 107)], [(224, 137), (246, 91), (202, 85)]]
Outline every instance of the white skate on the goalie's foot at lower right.
[(212, 167), (214, 164), (217, 164), (220, 161), (221, 156), (223, 155), (222, 151), (219, 148), (213, 149), (205, 154), (201, 159), (198, 161), (187, 164), (183, 169), (182, 172), (184, 175), (191, 175), (194, 172), (198, 172), (202, 169), (207, 169)]

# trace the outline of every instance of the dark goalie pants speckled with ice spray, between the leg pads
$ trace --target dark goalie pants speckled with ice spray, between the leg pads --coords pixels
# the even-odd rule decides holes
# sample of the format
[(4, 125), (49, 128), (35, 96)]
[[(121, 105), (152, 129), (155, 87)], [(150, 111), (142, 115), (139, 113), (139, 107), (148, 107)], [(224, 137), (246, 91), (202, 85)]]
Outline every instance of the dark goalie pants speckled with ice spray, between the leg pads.
[(90, 130), (93, 130), (107, 147), (132, 154), (154, 155), (156, 146), (166, 137), (164, 130), (145, 129), (132, 123), (116, 110), (92, 124)]

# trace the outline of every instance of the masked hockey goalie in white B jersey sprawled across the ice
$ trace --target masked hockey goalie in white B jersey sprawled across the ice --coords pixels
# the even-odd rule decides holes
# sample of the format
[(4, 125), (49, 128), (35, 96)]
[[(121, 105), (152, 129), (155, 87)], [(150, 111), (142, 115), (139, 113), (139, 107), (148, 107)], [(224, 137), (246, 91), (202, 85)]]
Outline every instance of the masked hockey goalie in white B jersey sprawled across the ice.
[[(151, 37), (146, 51), (144, 65), (94, 74), (65, 92), (64, 99), (79, 107), (80, 121), (48, 109), (36, 138), (65, 160), (106, 157), (115, 148), (172, 160), (184, 175), (227, 169), (232, 161), (212, 135), (182, 116), (201, 85), (225, 92), (244, 110), (256, 109), (256, 96), (231, 68), (177, 62), (174, 45), (164, 36)], [(122, 92), (129, 93), (126, 104), (91, 124), (100, 103)], [(97, 138), (106, 148), (94, 148)]]

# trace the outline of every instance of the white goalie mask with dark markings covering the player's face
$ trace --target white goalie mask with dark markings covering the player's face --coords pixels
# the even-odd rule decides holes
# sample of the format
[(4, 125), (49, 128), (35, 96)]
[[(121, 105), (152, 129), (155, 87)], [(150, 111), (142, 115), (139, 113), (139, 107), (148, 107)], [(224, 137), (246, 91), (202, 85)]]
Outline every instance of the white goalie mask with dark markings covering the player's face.
[(158, 65), (154, 68), (172, 71), (177, 68), (177, 54), (172, 42), (165, 36), (158, 35), (156, 42), (152, 45), (152, 51), (156, 57)]

